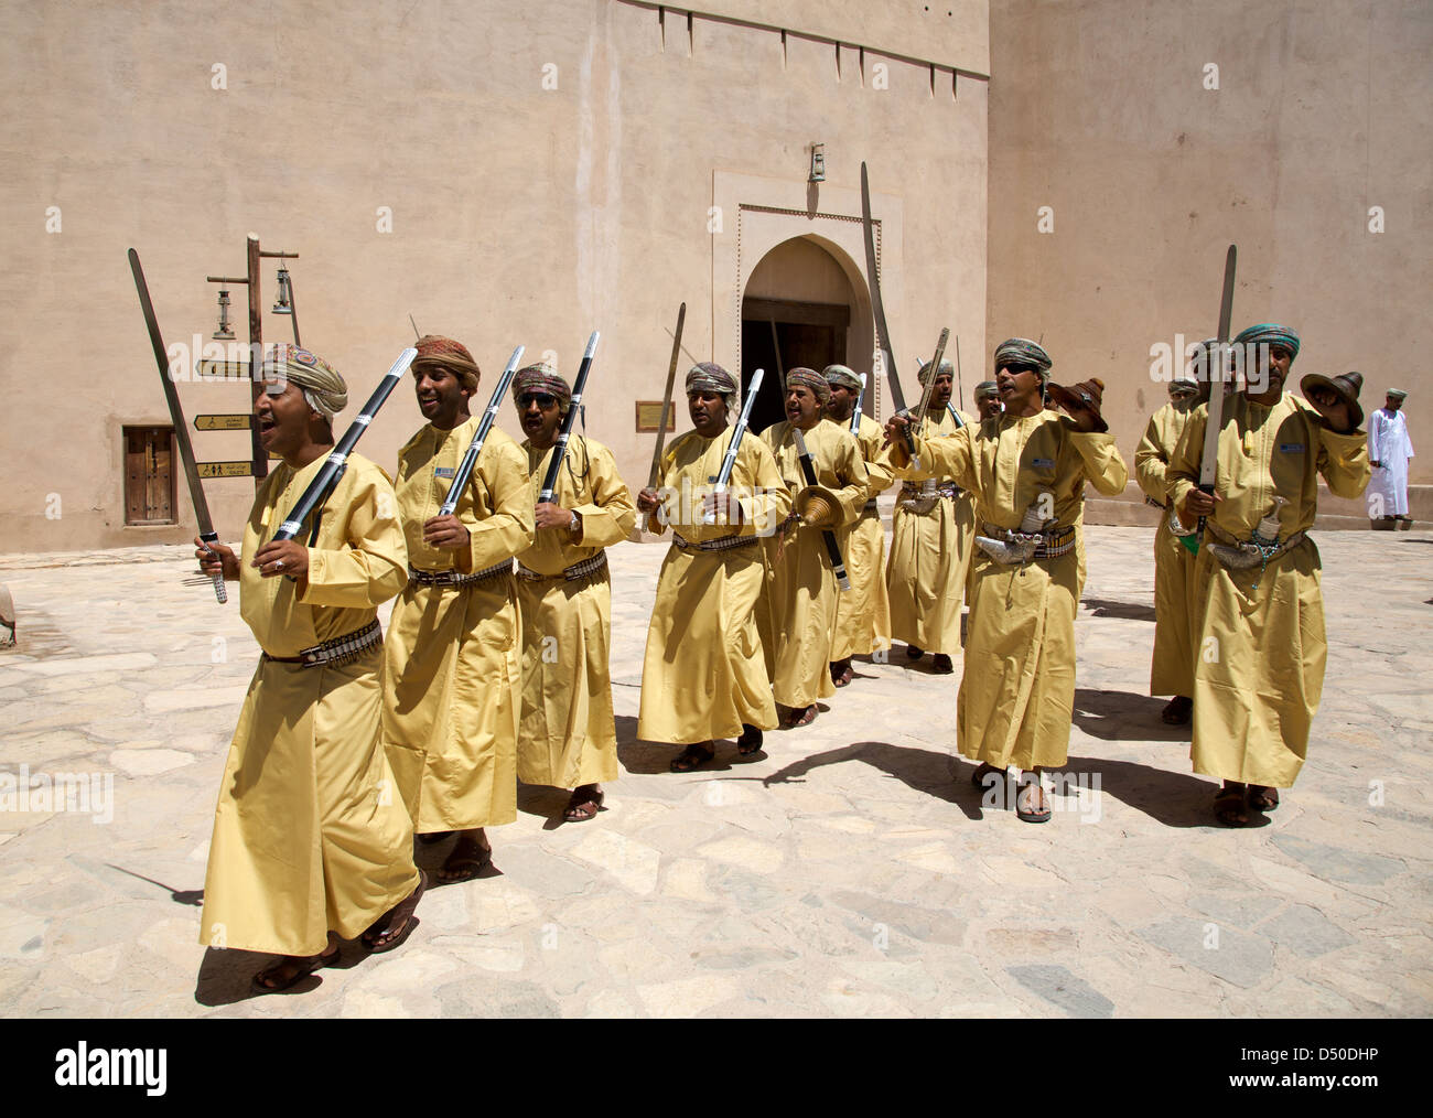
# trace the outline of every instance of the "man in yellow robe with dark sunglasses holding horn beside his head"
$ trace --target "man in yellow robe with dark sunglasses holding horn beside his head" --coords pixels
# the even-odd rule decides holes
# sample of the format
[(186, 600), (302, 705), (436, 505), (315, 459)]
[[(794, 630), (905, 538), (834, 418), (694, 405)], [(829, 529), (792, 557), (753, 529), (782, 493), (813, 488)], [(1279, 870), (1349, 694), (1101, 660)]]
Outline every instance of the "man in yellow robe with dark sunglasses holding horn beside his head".
[[(960, 752), (977, 787), (1023, 771), (1016, 814), (1045, 823), (1039, 770), (1063, 765), (1075, 710), (1076, 522), (1085, 484), (1113, 496), (1129, 477), (1099, 416), (1101, 386), (1060, 390), (1070, 416), (1043, 407), (1049, 354), (1029, 338), (995, 351), (1005, 414), (946, 439), (920, 437), (921, 474), (974, 493), (980, 522), (966, 671), (956, 701)], [(1053, 394), (1053, 386), (1052, 394)], [(887, 424), (897, 474), (910, 470), (901, 430)]]

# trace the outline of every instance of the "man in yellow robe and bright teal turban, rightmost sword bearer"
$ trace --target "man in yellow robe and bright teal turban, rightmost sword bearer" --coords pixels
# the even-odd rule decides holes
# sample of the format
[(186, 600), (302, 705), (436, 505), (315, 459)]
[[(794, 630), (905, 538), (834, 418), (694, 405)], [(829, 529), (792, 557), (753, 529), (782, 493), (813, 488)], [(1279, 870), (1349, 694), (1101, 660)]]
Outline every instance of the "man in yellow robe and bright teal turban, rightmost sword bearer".
[(1189, 755), (1195, 773), (1224, 781), (1215, 817), (1242, 827), (1250, 808), (1271, 811), (1278, 788), (1293, 787), (1323, 695), (1321, 565), (1307, 535), (1318, 476), (1357, 497), (1371, 470), (1357, 383), (1305, 377), (1305, 403), (1284, 391), (1298, 355), (1293, 330), (1264, 322), (1234, 344), (1247, 384), (1224, 401), (1214, 493), (1198, 489), (1207, 404), (1189, 417), (1168, 476), (1184, 527), (1208, 517), (1195, 566), (1204, 611)]

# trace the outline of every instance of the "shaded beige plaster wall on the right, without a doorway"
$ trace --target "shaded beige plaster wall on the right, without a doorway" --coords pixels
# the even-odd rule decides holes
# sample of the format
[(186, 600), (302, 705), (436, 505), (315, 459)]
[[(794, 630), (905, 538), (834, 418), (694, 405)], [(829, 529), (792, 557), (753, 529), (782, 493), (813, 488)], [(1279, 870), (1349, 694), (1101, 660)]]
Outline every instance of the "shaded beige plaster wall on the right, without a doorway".
[[(1043, 333), (1056, 380), (1103, 378), (1132, 460), (1165, 400), (1151, 347), (1214, 333), (1235, 242), (1235, 331), (1294, 327), (1293, 381), (1360, 370), (1369, 411), (1407, 388), (1429, 440), (1433, 6), (995, 0), (990, 50), (990, 347)], [(1412, 480), (1433, 483), (1433, 454)]]

